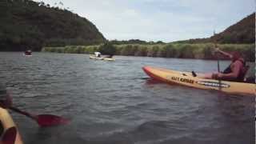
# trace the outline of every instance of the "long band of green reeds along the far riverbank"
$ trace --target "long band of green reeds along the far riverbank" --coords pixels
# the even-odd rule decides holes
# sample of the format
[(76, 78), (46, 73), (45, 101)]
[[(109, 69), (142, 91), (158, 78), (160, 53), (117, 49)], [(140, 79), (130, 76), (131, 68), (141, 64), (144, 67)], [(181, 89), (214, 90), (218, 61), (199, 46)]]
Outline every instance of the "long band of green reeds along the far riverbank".
[[(94, 54), (95, 51), (101, 51), (102, 46), (104, 45), (44, 47), (42, 51), (71, 54)], [(239, 51), (243, 54), (244, 58), (246, 58), (246, 61), (254, 62), (255, 60), (255, 44), (218, 44), (218, 47), (221, 50), (225, 50), (231, 53), (233, 51)], [(114, 49), (114, 55), (147, 56), (162, 58), (216, 59), (216, 55), (213, 54), (214, 43), (169, 43), (154, 45), (123, 44), (113, 45), (112, 49)], [(224, 57), (220, 58), (225, 59)]]

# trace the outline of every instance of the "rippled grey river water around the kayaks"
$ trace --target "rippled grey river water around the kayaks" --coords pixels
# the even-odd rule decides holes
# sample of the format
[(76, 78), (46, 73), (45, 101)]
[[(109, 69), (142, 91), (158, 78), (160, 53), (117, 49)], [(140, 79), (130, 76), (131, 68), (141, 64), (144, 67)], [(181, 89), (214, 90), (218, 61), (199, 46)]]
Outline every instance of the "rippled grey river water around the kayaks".
[[(254, 143), (254, 97), (152, 81), (142, 66), (217, 71), (216, 61), (86, 54), (0, 53), (0, 82), (14, 106), (70, 118), (38, 127), (11, 113), (26, 144)], [(222, 70), (229, 62), (222, 61)], [(254, 70), (254, 69), (252, 69)]]

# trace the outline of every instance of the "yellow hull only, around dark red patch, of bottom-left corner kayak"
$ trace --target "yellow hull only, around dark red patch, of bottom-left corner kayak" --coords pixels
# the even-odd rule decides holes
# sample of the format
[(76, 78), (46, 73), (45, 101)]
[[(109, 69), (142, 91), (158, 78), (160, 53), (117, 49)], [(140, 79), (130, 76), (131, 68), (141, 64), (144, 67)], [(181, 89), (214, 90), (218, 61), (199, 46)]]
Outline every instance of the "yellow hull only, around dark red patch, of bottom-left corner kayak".
[(13, 118), (11, 118), (9, 112), (6, 109), (2, 109), (1, 107), (0, 107), (0, 121), (2, 123), (4, 132), (6, 132), (6, 130), (10, 129), (11, 127), (16, 128), (17, 134), (16, 134), (14, 144), (22, 144), (23, 142), (22, 142), (21, 135), (18, 132), (18, 128), (15, 125)]

